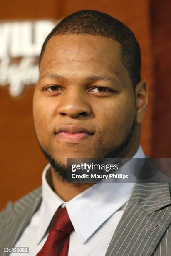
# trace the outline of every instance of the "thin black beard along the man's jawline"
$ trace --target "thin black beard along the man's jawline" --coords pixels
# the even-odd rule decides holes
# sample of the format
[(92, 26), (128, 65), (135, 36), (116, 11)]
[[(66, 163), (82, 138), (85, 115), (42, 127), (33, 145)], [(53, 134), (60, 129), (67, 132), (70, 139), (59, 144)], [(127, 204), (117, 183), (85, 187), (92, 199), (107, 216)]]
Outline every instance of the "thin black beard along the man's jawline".
[[(104, 153), (100, 152), (100, 150), (97, 149), (97, 152), (99, 152), (99, 157), (97, 156), (96, 158), (121, 158), (121, 157), (124, 157), (124, 155), (125, 155), (124, 152), (126, 151), (126, 148), (129, 146), (129, 143), (131, 142), (131, 139), (133, 137), (135, 126), (136, 126), (136, 118), (134, 118), (131, 128), (130, 128), (129, 132), (127, 133), (127, 136), (122, 141), (122, 143), (119, 146), (108, 150), (108, 152), (105, 150)], [(40, 143), (39, 143), (39, 145), (40, 145)], [(42, 153), (44, 154), (45, 158), (50, 162), (50, 165), (52, 166), (52, 168), (55, 171), (55, 173), (57, 174), (57, 176), (60, 179), (62, 179), (62, 181), (66, 182), (66, 180), (67, 180), (66, 166), (62, 162), (54, 159), (50, 154), (48, 154), (47, 151), (41, 145), (40, 145), (40, 149), (41, 149)]]

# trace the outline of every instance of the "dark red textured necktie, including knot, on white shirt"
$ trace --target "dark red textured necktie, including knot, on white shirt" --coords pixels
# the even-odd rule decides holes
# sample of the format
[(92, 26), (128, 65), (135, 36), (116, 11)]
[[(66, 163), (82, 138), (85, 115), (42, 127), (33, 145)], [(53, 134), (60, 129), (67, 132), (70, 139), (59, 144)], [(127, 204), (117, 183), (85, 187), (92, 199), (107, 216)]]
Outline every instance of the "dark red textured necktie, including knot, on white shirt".
[(37, 256), (67, 256), (69, 235), (74, 230), (66, 208), (58, 208), (47, 240)]

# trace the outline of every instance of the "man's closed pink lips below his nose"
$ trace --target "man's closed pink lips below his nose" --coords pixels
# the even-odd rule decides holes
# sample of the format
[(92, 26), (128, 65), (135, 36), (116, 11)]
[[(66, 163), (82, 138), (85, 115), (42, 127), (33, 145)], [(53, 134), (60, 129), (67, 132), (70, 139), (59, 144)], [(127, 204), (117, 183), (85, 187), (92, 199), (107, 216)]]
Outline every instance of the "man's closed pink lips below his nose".
[(63, 125), (57, 129), (59, 138), (70, 143), (78, 143), (91, 137), (93, 134), (92, 131), (79, 125)]

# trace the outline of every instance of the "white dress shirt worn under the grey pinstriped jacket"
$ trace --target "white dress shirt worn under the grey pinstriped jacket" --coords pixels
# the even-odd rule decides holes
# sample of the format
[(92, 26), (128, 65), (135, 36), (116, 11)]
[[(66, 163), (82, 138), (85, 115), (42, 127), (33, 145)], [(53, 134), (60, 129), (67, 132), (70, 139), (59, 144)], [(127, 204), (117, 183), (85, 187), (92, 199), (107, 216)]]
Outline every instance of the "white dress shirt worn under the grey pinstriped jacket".
[[(144, 157), (139, 146), (134, 158)], [(121, 167), (122, 174), (128, 174), (127, 167), (128, 163)], [(48, 178), (50, 175), (48, 164), (42, 174), (42, 203), (15, 247), (29, 247), (29, 255), (35, 256), (47, 240), (53, 215), (62, 205), (67, 208), (74, 226), (70, 235), (68, 256), (104, 256), (135, 183), (98, 182), (69, 202), (64, 202), (54, 192)]]

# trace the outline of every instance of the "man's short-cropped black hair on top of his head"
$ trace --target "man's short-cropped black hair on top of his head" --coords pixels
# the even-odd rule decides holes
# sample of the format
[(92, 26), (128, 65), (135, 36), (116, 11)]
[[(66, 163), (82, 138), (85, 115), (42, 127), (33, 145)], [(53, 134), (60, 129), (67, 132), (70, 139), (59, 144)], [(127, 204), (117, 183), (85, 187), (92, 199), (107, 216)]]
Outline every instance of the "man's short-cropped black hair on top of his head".
[(141, 51), (132, 31), (119, 20), (97, 10), (81, 10), (61, 20), (45, 39), (39, 67), (47, 42), (55, 35), (90, 34), (112, 38), (121, 44), (121, 59), (133, 87), (141, 79)]

